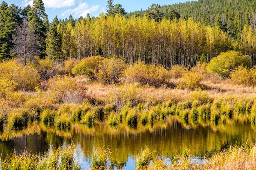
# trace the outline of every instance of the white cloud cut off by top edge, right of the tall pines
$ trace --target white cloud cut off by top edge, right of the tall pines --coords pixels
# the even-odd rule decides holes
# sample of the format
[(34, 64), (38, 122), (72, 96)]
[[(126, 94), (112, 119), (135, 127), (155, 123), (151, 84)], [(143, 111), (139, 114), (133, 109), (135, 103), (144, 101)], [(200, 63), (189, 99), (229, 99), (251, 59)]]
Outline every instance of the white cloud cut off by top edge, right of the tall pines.
[(75, 0), (43, 0), (46, 8), (63, 8), (75, 5)]

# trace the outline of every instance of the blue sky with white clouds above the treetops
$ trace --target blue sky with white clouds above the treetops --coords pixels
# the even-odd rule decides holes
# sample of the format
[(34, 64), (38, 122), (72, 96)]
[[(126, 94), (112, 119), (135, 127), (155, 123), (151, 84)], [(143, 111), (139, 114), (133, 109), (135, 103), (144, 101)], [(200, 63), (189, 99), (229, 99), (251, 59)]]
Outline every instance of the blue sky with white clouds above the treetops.
[[(33, 6), (32, 0), (0, 0), (6, 2), (8, 5), (15, 4), (18, 7), (24, 8), (27, 4)], [(175, 4), (179, 2), (186, 2), (187, 0), (114, 0), (113, 4), (121, 4), (126, 12), (145, 10), (153, 3)], [(45, 11), (48, 15), (49, 21), (52, 21), (55, 16), (61, 19), (68, 18), (71, 14), (73, 18), (86, 17), (87, 13), (91, 16), (97, 17), (101, 12), (106, 13), (107, 0), (43, 0), (45, 4)]]

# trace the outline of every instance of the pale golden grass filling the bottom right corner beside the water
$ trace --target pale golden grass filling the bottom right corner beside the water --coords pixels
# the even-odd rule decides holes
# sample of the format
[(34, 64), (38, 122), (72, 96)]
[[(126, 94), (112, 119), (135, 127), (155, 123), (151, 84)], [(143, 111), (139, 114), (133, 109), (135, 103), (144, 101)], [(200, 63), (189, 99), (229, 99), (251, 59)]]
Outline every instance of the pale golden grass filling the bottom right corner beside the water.
[(164, 160), (155, 159), (148, 170), (255, 170), (256, 145), (251, 148), (232, 146), (217, 152), (213, 157), (205, 158), (202, 163), (195, 162), (189, 155), (177, 156), (177, 161), (166, 166)]

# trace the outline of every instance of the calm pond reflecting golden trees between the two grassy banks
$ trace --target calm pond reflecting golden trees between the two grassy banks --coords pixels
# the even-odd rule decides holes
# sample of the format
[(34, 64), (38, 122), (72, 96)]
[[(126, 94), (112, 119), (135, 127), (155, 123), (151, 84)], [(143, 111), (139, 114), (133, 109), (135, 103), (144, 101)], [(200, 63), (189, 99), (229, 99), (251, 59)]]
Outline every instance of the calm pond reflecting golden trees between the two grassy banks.
[(28, 125), (24, 130), (0, 134), (2, 155), (22, 150), (43, 153), (53, 146), (65, 146), (73, 142), (75, 157), (82, 168), (90, 168), (91, 155), (97, 148), (106, 147), (112, 151), (110, 157), (115, 166), (135, 169), (138, 152), (148, 146), (155, 154), (171, 157), (189, 150), (200, 160), (206, 154), (228, 148), (230, 145), (250, 145), (256, 142), (255, 125), (249, 121), (227, 121), (226, 124), (184, 125), (176, 118), (169, 118), (165, 124), (146, 126), (138, 130), (120, 125), (110, 128), (104, 123), (93, 128), (74, 125), (70, 130), (59, 131), (40, 123)]

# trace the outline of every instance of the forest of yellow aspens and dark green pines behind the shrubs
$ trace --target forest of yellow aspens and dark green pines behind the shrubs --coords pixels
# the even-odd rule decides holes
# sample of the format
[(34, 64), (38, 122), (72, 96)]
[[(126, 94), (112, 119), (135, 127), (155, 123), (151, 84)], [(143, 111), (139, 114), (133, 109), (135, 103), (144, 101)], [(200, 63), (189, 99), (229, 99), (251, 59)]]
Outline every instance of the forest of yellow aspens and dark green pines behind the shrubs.
[[(65, 20), (56, 16), (52, 22), (41, 0), (34, 0), (34, 7), (24, 9), (2, 2), (0, 60), (22, 57), (26, 62), (39, 55), (63, 61), (101, 55), (117, 56), (130, 64), (143, 61), (192, 67), (202, 55), (209, 62), (221, 52), (234, 50), (251, 56), (254, 65), (256, 8), (254, 0), (248, 2), (252, 5), (247, 10), (243, 10), (247, 1), (199, 0), (163, 7), (153, 4), (143, 16), (126, 14), (118, 4), (115, 6), (119, 10), (115, 11), (119, 12), (101, 13), (96, 18), (88, 14), (73, 19), (70, 15)], [(192, 7), (196, 9), (193, 13), (189, 11)], [(222, 8), (229, 10), (221, 12)]]

